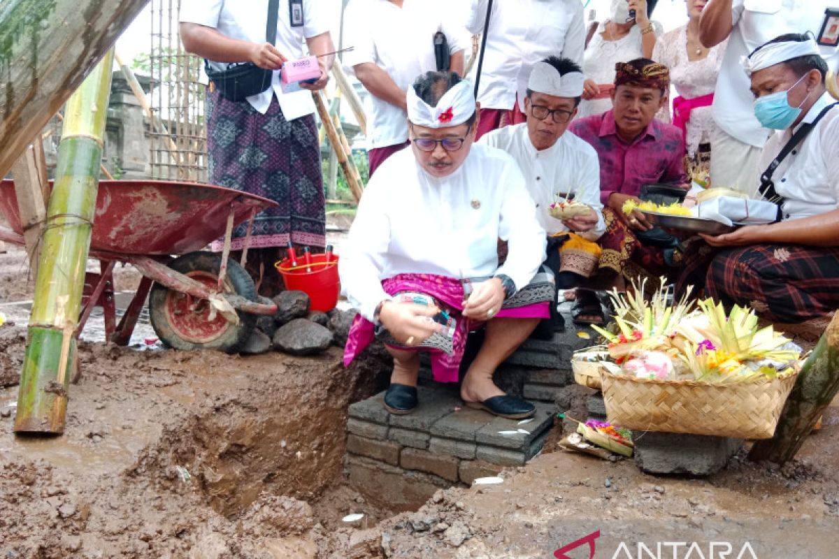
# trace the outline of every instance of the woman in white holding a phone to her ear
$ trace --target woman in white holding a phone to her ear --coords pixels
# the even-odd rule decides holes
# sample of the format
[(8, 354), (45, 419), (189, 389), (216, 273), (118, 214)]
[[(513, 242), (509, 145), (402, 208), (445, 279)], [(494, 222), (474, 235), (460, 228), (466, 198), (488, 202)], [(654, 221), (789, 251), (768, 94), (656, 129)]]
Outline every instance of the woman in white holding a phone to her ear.
[[(612, 0), (609, 18), (597, 26), (583, 54), (586, 85), (576, 118), (612, 109), (618, 62), (652, 57), (655, 38), (663, 32), (659, 22), (649, 20), (655, 3), (656, 0)], [(630, 9), (635, 10), (635, 18), (629, 17)]]

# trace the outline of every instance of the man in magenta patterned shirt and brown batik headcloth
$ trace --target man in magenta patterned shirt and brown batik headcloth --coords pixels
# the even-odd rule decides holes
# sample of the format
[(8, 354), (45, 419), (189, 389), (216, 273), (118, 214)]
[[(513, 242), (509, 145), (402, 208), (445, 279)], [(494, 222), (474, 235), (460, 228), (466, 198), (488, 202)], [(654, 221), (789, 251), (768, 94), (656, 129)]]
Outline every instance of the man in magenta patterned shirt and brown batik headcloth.
[[(644, 214), (623, 213), (628, 199), (638, 200), (644, 184), (688, 184), (685, 144), (680, 130), (655, 119), (667, 102), (670, 72), (653, 60), (636, 59), (616, 67), (613, 107), (602, 115), (581, 118), (569, 130), (589, 142), (600, 159), (600, 198), (607, 230), (598, 243), (603, 248), (598, 276), (612, 281), (618, 274), (666, 273), (667, 258), (660, 244), (651, 246), (636, 234), (653, 229)], [(670, 251), (667, 256), (672, 256)], [(644, 274), (644, 272), (647, 272)]]

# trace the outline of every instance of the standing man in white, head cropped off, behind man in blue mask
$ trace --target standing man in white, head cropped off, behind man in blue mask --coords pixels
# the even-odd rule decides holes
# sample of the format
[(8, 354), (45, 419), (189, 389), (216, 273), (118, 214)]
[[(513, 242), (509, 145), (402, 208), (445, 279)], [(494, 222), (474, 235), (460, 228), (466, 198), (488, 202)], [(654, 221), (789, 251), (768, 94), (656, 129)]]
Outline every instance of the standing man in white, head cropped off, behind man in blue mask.
[[(818, 34), (825, 25), (826, 8), (836, 0), (710, 0), (702, 10), (699, 39), (707, 48), (728, 46), (717, 78), (712, 111), (719, 125), (711, 137), (711, 181), (714, 186), (753, 194), (763, 144), (769, 130), (753, 116), (748, 77), (740, 61), (770, 39), (785, 33)], [(821, 55), (839, 69), (839, 49), (820, 45)]]

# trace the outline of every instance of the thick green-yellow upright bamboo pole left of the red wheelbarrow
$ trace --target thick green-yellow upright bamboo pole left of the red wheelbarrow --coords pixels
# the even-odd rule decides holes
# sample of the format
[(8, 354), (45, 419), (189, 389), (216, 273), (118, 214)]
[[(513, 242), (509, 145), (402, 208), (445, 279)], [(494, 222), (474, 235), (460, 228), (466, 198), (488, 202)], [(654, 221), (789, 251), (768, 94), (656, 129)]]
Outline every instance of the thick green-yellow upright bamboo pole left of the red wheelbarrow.
[(17, 433), (64, 432), (112, 65), (109, 52), (67, 101), (29, 317)]

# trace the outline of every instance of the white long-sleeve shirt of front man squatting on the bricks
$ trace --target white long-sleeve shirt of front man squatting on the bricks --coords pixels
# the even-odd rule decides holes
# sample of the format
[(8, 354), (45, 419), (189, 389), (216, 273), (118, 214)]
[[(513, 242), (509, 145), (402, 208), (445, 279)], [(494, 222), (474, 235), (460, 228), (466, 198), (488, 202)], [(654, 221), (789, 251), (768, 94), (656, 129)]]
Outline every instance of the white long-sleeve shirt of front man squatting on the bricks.
[[(502, 267), (499, 238), (509, 248)], [(524, 177), (506, 153), (474, 144), (455, 173), (438, 179), (408, 148), (388, 158), (367, 184), (338, 272), (350, 303), (372, 320), (389, 297), (385, 278), (506, 274), (521, 288), (545, 260), (545, 243)]]

